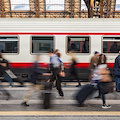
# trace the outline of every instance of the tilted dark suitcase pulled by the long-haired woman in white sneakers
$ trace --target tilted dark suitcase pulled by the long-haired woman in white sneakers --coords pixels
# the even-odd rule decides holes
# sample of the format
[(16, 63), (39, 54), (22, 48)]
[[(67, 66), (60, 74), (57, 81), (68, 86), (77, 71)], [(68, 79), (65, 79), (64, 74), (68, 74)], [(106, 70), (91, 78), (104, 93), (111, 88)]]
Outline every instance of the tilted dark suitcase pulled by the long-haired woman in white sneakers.
[(93, 85), (91, 84), (84, 85), (77, 93), (76, 100), (79, 102), (80, 105), (82, 105), (83, 102), (95, 91), (96, 89), (94, 88)]

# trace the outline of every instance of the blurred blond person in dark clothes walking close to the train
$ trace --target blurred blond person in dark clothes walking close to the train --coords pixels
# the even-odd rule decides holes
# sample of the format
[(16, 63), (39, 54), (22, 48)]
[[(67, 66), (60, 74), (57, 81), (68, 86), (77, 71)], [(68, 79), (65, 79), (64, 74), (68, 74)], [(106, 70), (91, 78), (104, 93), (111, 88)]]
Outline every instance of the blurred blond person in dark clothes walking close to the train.
[(75, 67), (77, 65), (76, 59), (74, 57), (74, 53), (72, 51), (69, 52), (69, 55), (71, 57), (71, 63), (70, 63), (70, 74), (75, 77), (75, 79), (78, 81), (78, 85), (76, 87), (81, 86), (79, 76), (78, 76), (78, 70)]

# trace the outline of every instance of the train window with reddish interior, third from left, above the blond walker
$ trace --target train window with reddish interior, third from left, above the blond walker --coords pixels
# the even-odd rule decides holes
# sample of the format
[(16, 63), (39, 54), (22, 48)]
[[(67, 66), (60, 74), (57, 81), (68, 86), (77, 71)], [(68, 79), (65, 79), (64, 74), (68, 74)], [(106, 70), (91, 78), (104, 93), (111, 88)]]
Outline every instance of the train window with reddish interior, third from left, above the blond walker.
[(89, 53), (89, 37), (68, 36), (67, 51), (75, 53)]

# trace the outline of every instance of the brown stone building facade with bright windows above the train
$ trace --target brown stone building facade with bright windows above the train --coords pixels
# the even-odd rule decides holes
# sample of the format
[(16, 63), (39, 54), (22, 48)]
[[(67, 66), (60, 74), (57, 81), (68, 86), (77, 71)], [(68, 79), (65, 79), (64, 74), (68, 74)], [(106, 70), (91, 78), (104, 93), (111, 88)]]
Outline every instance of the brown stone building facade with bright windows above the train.
[[(120, 18), (120, 0), (0, 0), (1, 18)], [(96, 4), (96, 3), (99, 4)]]

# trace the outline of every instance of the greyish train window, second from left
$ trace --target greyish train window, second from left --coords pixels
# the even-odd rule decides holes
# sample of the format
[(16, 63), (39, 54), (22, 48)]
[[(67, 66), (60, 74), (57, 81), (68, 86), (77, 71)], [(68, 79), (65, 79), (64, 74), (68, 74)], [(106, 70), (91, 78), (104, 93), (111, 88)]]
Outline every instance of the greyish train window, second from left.
[(54, 37), (32, 36), (32, 53), (48, 53), (54, 50)]

